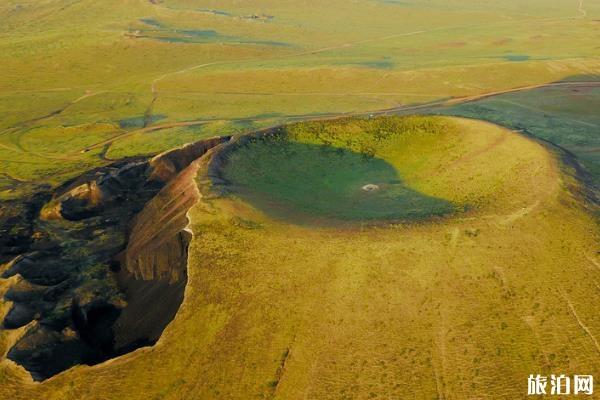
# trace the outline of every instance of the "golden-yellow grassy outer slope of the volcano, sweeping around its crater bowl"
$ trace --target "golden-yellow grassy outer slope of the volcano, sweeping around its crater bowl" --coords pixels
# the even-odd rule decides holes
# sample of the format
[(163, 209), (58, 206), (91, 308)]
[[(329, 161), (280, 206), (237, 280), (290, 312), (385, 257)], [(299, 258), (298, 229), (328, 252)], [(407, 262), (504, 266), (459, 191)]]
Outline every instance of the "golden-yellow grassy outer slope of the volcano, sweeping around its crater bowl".
[(515, 399), (531, 373), (597, 375), (599, 232), (572, 177), (517, 133), (437, 121), (454, 129), (420, 144), (421, 168), (441, 176), (409, 178), (409, 158), (406, 182), (476, 194), (467, 214), (307, 227), (215, 198), (205, 165), (185, 300), (160, 341), (41, 384), (2, 361), (0, 395)]

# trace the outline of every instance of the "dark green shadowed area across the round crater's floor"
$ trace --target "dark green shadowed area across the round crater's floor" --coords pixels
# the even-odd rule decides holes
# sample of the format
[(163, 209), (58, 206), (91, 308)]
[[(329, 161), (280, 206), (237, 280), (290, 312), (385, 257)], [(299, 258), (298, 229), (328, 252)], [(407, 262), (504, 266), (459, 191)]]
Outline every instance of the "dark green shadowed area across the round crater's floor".
[(405, 185), (372, 151), (266, 135), (233, 145), (221, 167), (225, 189), (271, 217), (296, 224), (420, 221), (457, 210)]

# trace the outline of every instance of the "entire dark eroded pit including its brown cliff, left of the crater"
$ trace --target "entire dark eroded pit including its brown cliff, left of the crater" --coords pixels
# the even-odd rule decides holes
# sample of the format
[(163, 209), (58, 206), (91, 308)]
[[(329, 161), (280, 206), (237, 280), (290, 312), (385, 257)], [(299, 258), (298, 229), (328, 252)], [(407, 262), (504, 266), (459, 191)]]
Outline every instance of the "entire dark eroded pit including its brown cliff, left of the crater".
[(4, 212), (6, 356), (43, 380), (154, 343), (183, 300), (195, 160), (227, 140), (98, 168)]

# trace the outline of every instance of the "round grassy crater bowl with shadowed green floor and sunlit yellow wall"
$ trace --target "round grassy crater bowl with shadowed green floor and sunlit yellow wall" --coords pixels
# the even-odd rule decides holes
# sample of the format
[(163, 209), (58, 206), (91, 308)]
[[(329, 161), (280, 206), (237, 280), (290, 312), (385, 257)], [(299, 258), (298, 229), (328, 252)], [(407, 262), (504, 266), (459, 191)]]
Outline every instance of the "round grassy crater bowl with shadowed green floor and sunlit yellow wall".
[[(493, 165), (485, 179), (465, 172), (472, 169), (463, 165), (469, 146), (457, 129), (431, 117), (298, 123), (235, 145), (223, 178), (265, 212), (297, 221), (419, 220), (459, 212), (486, 201), (510, 177)], [(477, 125), (463, 121), (460, 129), (477, 140)], [(499, 134), (489, 146), (503, 140)], [(368, 185), (375, 190), (365, 190)]]

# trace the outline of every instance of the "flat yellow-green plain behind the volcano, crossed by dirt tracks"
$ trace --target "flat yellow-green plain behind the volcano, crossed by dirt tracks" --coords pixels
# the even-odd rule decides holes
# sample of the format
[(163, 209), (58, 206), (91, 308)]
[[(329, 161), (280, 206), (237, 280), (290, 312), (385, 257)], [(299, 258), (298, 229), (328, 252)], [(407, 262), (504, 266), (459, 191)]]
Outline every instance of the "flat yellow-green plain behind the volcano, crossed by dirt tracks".
[[(585, 2), (584, 16), (573, 3), (7, 1), (0, 5), (0, 173), (37, 184), (48, 182), (45, 170), (75, 171), (43, 161), (46, 150), (16, 151), (6, 129), (46, 141), (48, 155), (71, 156), (100, 129), (55, 143), (73, 126), (145, 116), (151, 125), (247, 118), (264, 126), (598, 73), (600, 10)], [(185, 31), (201, 42), (153, 39)], [(155, 142), (153, 150), (188, 138), (134, 136)], [(129, 148), (115, 154), (149, 151), (128, 138), (120, 147)], [(103, 164), (102, 154), (77, 163)]]

